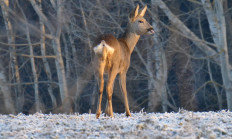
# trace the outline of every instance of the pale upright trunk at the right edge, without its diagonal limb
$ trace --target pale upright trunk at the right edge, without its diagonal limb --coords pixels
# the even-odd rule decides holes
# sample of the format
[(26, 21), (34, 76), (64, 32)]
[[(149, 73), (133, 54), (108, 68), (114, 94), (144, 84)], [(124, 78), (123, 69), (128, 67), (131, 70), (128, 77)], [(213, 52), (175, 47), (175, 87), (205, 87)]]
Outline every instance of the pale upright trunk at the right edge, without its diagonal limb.
[[(211, 35), (214, 43), (218, 46), (221, 74), (223, 85), (227, 97), (227, 108), (232, 111), (232, 77), (230, 75), (231, 66), (229, 64), (226, 23), (223, 11), (222, 2), (215, 0), (211, 3), (210, 0), (201, 0), (205, 13), (207, 15)], [(214, 9), (214, 8), (215, 9)]]

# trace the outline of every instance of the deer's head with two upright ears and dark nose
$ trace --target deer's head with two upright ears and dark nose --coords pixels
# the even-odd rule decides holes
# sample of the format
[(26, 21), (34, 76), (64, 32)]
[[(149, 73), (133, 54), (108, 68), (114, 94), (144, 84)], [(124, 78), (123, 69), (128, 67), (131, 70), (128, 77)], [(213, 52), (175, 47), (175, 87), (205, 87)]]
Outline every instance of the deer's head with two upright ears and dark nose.
[(147, 6), (139, 11), (139, 5), (136, 6), (135, 10), (131, 12), (129, 16), (129, 31), (136, 33), (137, 35), (154, 34), (153, 27), (143, 17), (146, 13)]

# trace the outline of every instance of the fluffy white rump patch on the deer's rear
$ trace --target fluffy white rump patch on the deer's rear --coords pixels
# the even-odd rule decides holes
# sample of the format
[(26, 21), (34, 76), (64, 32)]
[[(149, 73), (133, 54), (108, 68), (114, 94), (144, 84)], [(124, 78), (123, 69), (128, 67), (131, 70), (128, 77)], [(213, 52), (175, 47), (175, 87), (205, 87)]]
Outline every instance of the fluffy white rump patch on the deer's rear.
[(104, 40), (101, 41), (100, 44), (98, 44), (96, 47), (93, 48), (95, 54), (102, 54), (103, 47), (106, 48), (107, 53), (113, 54), (114, 48), (110, 47)]

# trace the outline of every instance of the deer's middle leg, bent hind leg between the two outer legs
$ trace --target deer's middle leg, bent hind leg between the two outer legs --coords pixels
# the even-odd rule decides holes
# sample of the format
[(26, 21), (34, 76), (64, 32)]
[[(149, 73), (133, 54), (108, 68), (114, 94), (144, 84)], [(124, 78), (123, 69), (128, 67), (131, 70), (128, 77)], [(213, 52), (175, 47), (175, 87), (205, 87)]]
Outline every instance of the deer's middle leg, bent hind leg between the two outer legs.
[(113, 86), (114, 86), (114, 80), (117, 76), (116, 70), (112, 70), (109, 74), (109, 79), (107, 83), (107, 106), (105, 113), (109, 115), (110, 117), (113, 117), (113, 106), (112, 106), (112, 95), (113, 95)]

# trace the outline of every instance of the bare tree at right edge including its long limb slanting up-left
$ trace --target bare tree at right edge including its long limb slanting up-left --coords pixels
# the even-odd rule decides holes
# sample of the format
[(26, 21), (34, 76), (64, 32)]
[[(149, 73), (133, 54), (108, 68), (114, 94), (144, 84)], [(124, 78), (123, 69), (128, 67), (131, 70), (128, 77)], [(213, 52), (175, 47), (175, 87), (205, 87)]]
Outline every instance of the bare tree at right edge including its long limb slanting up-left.
[[(215, 1), (215, 4), (212, 6), (210, 1), (202, 1), (215, 44), (199, 39), (170, 11), (170, 9), (162, 0), (157, 0), (154, 4), (159, 6), (163, 10), (163, 12), (168, 16), (171, 23), (173, 23), (173, 25), (175, 25), (176, 28), (185, 35), (185, 37), (192, 40), (193, 43), (195, 43), (195, 45), (199, 49), (201, 49), (208, 57), (211, 57), (212, 60), (221, 65), (223, 84), (225, 87), (225, 91), (227, 92), (228, 109), (231, 110), (231, 68), (228, 61), (229, 59), (226, 43), (225, 18), (223, 15), (222, 3), (220, 1)], [(215, 7), (215, 9), (213, 9), (212, 7)], [(212, 49), (212, 47), (217, 48), (218, 52)], [(219, 55), (219, 57), (217, 55)]]

